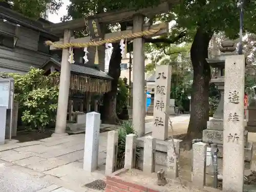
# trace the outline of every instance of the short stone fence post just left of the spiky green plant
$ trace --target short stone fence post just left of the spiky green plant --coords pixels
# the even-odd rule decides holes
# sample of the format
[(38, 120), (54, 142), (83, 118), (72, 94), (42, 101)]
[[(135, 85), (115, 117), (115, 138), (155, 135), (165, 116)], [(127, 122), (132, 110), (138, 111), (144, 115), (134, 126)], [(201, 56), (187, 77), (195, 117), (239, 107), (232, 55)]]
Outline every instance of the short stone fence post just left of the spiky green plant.
[(116, 170), (117, 147), (118, 147), (118, 132), (117, 131), (108, 132), (108, 142), (106, 144), (105, 175), (111, 175)]

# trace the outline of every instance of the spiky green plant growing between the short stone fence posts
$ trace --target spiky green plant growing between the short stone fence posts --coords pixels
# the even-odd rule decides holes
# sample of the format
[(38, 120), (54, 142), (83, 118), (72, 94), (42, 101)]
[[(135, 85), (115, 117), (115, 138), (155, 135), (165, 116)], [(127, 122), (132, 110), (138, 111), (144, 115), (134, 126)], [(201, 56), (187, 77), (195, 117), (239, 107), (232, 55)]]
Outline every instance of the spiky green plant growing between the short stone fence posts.
[[(126, 135), (135, 134), (137, 135), (136, 131), (133, 128), (133, 124), (131, 121), (124, 121), (121, 125), (121, 128), (118, 131), (118, 152), (117, 152), (117, 168), (121, 169), (124, 167), (124, 156), (125, 156), (125, 141)], [(136, 155), (136, 162), (137, 159), (140, 157), (139, 154), (140, 147), (136, 147), (135, 155)]]

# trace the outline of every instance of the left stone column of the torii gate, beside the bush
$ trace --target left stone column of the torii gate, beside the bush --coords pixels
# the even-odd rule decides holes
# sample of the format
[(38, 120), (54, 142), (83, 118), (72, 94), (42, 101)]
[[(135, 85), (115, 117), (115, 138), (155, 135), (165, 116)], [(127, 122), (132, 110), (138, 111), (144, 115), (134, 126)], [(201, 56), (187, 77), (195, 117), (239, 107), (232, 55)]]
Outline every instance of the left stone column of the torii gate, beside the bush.
[[(72, 35), (71, 30), (66, 29), (64, 32), (63, 44), (67, 44)], [(69, 101), (69, 86), (70, 86), (70, 63), (69, 50), (62, 50), (60, 80), (59, 80), (59, 97), (56, 117), (56, 126), (53, 136), (65, 136), (67, 125), (68, 101)]]

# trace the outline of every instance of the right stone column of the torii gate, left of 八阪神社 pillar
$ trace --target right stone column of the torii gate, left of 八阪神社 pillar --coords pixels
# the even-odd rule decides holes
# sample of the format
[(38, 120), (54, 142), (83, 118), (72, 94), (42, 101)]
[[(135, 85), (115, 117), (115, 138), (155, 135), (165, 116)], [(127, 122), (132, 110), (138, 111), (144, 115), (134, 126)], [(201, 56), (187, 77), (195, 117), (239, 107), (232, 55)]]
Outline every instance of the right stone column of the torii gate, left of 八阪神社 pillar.
[[(133, 19), (133, 32), (142, 31), (144, 16), (135, 15)], [(145, 133), (145, 61), (143, 39), (135, 38), (133, 40), (133, 124), (139, 137)]]

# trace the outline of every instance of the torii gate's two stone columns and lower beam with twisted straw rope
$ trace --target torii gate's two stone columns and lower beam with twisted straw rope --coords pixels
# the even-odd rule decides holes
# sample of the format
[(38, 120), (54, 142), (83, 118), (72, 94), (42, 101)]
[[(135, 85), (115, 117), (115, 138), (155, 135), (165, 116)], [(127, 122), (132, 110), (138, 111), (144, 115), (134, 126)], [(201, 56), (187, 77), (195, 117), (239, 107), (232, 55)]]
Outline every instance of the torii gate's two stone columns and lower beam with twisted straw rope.
[[(52, 136), (63, 136), (66, 133), (66, 115), (68, 109), (68, 96), (70, 84), (70, 63), (68, 48), (84, 48), (88, 50), (92, 46), (100, 46), (105, 43), (120, 41), (121, 39), (133, 39), (134, 51), (134, 75), (133, 75), (133, 124), (138, 136), (143, 136), (145, 132), (145, 96), (144, 96), (144, 48), (142, 36), (152, 37), (166, 34), (168, 32), (168, 24), (160, 23), (153, 26), (144, 25), (144, 15), (133, 15), (133, 28), (125, 31), (108, 33), (102, 35), (103, 40), (91, 41), (91, 37), (74, 38), (72, 37), (72, 29), (64, 27), (63, 39), (57, 42), (47, 41), (46, 44), (50, 46), (51, 50), (62, 49), (61, 71), (59, 82), (59, 97), (55, 133)], [(99, 29), (98, 29), (99, 30)], [(93, 53), (89, 51), (89, 54)], [(101, 69), (104, 69), (101, 68)]]

